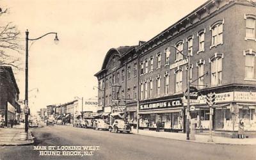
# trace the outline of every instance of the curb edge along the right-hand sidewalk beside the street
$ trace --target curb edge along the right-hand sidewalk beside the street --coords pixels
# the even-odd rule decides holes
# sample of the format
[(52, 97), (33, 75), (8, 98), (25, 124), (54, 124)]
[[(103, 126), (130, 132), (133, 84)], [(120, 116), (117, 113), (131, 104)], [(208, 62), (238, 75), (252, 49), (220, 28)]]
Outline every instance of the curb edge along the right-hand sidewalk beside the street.
[(140, 136), (147, 136), (147, 137), (154, 137), (154, 138), (163, 138), (163, 139), (167, 139), (167, 140), (175, 140), (175, 141), (186, 141), (186, 142), (190, 142), (190, 143), (202, 143), (202, 144), (212, 144), (212, 145), (256, 145), (256, 144), (232, 144), (232, 143), (215, 143), (215, 142), (204, 142), (204, 141), (194, 141), (194, 140), (177, 140), (177, 139), (173, 139), (173, 138), (165, 138), (165, 137), (158, 137), (158, 136), (149, 136), (149, 135), (145, 135), (145, 134), (137, 134), (137, 133), (133, 133), (132, 134), (136, 134), (136, 135), (140, 135)]

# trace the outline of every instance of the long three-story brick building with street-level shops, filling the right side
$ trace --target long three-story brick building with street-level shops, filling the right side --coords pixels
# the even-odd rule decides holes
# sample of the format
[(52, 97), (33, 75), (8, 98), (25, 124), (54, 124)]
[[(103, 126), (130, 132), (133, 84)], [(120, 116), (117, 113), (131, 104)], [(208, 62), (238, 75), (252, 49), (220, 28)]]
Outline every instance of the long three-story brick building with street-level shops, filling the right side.
[[(205, 95), (215, 92), (216, 132), (237, 131), (239, 119), (246, 131), (256, 131), (255, 6), (252, 1), (207, 1), (145, 43), (124, 52), (110, 49), (95, 74), (104, 112), (115, 110), (111, 99), (124, 99), (121, 110), (130, 122), (136, 124), (138, 109), (140, 127), (154, 129), (160, 120), (164, 131), (185, 131), (182, 97), (189, 70), (191, 85), (201, 94), (191, 104), (196, 129), (209, 129)], [(191, 55), (190, 69), (180, 52)]]

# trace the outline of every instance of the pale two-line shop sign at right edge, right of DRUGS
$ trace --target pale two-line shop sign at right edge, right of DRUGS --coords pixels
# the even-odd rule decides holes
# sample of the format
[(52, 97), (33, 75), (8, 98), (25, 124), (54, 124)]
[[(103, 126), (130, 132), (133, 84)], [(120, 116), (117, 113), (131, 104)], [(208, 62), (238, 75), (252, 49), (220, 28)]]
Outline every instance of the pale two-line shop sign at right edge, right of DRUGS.
[(234, 100), (243, 102), (256, 102), (256, 92), (235, 92)]

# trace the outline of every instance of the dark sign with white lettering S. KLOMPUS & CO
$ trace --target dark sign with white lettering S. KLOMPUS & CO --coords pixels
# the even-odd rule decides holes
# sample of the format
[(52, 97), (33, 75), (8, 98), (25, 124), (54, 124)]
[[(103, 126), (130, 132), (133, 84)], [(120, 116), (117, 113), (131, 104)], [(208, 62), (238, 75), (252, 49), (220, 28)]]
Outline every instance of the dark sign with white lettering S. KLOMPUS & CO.
[(154, 102), (148, 104), (141, 104), (140, 110), (147, 110), (147, 109), (163, 109), (163, 108), (178, 108), (182, 106), (181, 99), (175, 100), (166, 100), (163, 102)]

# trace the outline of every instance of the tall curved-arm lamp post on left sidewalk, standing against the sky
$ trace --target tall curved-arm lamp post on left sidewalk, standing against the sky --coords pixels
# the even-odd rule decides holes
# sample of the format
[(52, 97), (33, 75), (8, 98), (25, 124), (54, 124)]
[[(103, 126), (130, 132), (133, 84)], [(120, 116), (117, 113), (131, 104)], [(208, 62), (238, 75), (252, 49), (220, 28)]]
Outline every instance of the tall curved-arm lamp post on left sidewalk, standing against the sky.
[(57, 36), (57, 33), (56, 32), (50, 32), (50, 33), (46, 33), (45, 35), (42, 35), (38, 38), (33, 38), (33, 39), (30, 39), (28, 38), (28, 35), (29, 35), (29, 31), (27, 29), (26, 31), (26, 69), (25, 69), (25, 108), (24, 108), (24, 113), (25, 113), (25, 132), (28, 132), (28, 41), (31, 40), (39, 40), (40, 38), (43, 38), (44, 36), (46, 35), (50, 35), (50, 34), (54, 34), (55, 35), (55, 38), (54, 38), (54, 42), (56, 44), (58, 44), (58, 36)]

